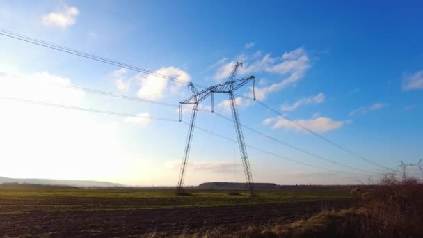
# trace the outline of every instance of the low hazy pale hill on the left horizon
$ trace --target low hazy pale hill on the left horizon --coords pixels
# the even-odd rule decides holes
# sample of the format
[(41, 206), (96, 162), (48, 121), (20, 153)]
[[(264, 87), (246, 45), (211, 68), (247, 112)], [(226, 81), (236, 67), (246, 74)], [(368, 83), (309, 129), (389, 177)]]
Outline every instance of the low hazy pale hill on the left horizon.
[(121, 184), (113, 182), (90, 181), (90, 180), (47, 180), (47, 179), (21, 179), (0, 177), (0, 184), (18, 183), (18, 184), (42, 184), (42, 185), (60, 185), (72, 187), (120, 187)]

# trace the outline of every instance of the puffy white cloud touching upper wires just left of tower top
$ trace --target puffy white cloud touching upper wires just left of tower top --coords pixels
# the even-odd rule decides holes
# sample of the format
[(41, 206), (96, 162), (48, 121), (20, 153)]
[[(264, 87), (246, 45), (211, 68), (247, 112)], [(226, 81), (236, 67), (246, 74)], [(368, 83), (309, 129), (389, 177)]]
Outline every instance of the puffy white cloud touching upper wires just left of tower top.
[[(179, 88), (185, 86), (185, 84), (180, 82), (187, 83), (190, 80), (190, 76), (187, 72), (176, 67), (163, 67), (154, 73), (173, 77), (179, 82), (173, 81), (170, 83), (168, 79), (156, 77), (152, 74), (148, 74), (147, 76), (137, 74), (136, 79), (138, 79), (141, 85), (137, 93), (138, 97), (144, 97), (149, 100), (159, 100), (165, 96), (165, 93), (179, 93)], [(170, 85), (168, 86), (168, 84)]]

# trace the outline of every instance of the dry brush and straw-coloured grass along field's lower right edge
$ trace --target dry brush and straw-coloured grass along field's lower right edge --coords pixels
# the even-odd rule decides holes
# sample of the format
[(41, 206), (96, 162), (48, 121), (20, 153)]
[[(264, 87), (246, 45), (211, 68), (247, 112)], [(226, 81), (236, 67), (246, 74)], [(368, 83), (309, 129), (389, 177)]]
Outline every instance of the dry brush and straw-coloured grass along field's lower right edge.
[[(226, 237), (423, 237), (423, 182), (385, 175), (380, 184), (356, 187), (358, 207), (324, 211), (291, 224), (248, 227)], [(218, 237), (209, 235), (208, 237)]]

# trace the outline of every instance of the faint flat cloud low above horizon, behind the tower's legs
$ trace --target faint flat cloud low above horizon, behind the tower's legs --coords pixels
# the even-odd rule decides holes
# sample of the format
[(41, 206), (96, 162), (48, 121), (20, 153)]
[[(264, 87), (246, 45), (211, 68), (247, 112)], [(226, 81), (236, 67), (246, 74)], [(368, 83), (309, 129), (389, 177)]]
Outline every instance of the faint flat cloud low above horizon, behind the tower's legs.
[[(179, 170), (181, 168), (182, 161), (168, 161), (166, 162), (166, 168), (173, 170)], [(233, 172), (240, 168), (242, 164), (233, 163), (227, 161), (190, 161), (187, 169), (189, 170), (202, 170), (210, 172)]]

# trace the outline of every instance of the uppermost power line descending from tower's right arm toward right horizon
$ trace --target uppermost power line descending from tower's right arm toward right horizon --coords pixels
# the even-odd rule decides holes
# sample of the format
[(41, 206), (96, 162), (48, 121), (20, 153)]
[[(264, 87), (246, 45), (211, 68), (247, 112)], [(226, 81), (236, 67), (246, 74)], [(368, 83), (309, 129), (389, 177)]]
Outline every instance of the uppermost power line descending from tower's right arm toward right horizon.
[(386, 170), (394, 171), (394, 170), (392, 170), (392, 168), (388, 168), (386, 166), (383, 166), (381, 164), (378, 164), (378, 163), (376, 163), (376, 162), (374, 162), (374, 161), (372, 161), (370, 159), (367, 159), (365, 157), (362, 157), (360, 154), (357, 154), (356, 152), (353, 152), (351, 150), (348, 150), (348, 149), (344, 148), (344, 146), (339, 145), (339, 144), (335, 143), (334, 141), (331, 141), (330, 139), (322, 136), (321, 134), (319, 134), (317, 132), (314, 132), (312, 129), (309, 129), (308, 127), (305, 127), (304, 125), (301, 125), (301, 123), (298, 123), (295, 120), (292, 120), (291, 118), (289, 118), (288, 116), (283, 115), (278, 110), (273, 109), (271, 106), (265, 104), (264, 102), (261, 102), (260, 100), (254, 100), (253, 98), (245, 97), (245, 96), (241, 96), (241, 95), (237, 95), (237, 97), (242, 97), (244, 99), (253, 100), (253, 101), (257, 102), (257, 104), (260, 104), (261, 106), (264, 106), (264, 108), (269, 109), (270, 111), (272, 111), (273, 113), (278, 114), (282, 118), (285, 118), (286, 120), (289, 120), (290, 122), (295, 123), (295, 125), (297, 125), (298, 127), (301, 127), (302, 129), (304, 129), (305, 131), (309, 132), (310, 134), (312, 134), (314, 136), (317, 136), (318, 138), (321, 138), (322, 140), (326, 141), (327, 143), (330, 143), (331, 145), (335, 146), (336, 148), (338, 148), (340, 150), (343, 150), (344, 152), (347, 152), (347, 153), (353, 155), (354, 157), (358, 157), (359, 159), (362, 159), (364, 161), (367, 161), (368, 163), (373, 164), (374, 166), (378, 166), (378, 167), (381, 167), (381, 168), (385, 168)]

